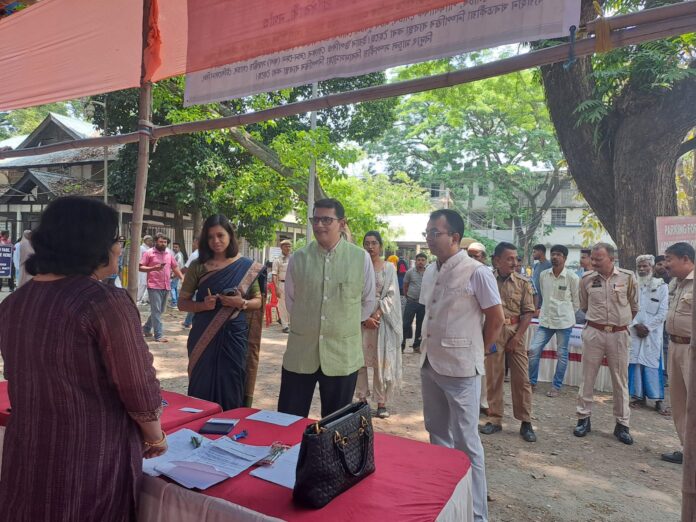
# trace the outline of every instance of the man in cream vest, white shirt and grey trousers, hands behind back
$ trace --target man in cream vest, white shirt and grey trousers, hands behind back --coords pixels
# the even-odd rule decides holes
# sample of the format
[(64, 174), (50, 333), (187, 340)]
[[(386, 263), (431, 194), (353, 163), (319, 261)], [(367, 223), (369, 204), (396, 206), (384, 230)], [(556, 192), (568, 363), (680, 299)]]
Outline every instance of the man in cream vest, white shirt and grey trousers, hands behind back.
[(488, 520), (486, 469), (478, 432), (484, 353), (505, 321), (498, 285), (488, 267), (459, 243), (464, 221), (454, 210), (430, 215), (425, 238), (437, 257), (425, 270), (421, 344), (423, 417), (430, 442), (464, 451), (471, 460), (474, 519)]

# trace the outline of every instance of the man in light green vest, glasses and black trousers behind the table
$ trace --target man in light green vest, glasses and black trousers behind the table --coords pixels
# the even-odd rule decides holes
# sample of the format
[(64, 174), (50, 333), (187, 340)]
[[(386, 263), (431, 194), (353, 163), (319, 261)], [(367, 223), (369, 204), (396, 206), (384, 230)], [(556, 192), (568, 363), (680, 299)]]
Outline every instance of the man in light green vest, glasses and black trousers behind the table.
[(367, 252), (341, 238), (343, 205), (314, 204), (316, 241), (290, 258), (285, 299), (290, 335), (278, 411), (307, 417), (317, 383), (321, 416), (350, 404), (364, 366), (361, 322), (374, 311), (375, 271)]

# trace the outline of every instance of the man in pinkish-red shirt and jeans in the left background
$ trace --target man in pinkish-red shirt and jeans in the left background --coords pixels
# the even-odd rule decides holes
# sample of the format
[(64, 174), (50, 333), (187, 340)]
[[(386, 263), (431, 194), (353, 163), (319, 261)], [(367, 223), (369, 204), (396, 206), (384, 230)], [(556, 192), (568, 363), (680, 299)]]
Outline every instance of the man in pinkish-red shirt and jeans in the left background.
[(143, 326), (143, 333), (145, 337), (150, 337), (154, 328), (155, 342), (158, 343), (169, 342), (163, 337), (162, 312), (171, 290), (172, 271), (180, 280), (184, 279), (174, 255), (167, 249), (168, 241), (164, 234), (157, 234), (155, 248), (145, 251), (140, 258), (140, 271), (147, 274), (147, 295), (150, 300), (150, 317)]

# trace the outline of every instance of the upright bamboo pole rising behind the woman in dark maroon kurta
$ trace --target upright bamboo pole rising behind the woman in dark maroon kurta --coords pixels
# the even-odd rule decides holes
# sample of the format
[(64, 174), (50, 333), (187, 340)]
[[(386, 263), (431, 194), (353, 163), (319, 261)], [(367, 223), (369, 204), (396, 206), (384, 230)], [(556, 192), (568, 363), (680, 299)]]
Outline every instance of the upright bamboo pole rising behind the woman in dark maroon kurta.
[[(143, 2), (143, 53), (147, 46), (150, 28), (151, 1)], [(141, 85), (138, 102), (138, 168), (135, 176), (135, 196), (133, 199), (133, 217), (131, 220), (131, 244), (128, 256), (128, 293), (136, 301), (138, 295), (138, 276), (140, 275), (140, 234), (143, 230), (145, 213), (145, 194), (147, 192), (147, 171), (150, 163), (150, 120), (152, 118), (152, 83), (144, 81), (145, 65), (141, 57)]]

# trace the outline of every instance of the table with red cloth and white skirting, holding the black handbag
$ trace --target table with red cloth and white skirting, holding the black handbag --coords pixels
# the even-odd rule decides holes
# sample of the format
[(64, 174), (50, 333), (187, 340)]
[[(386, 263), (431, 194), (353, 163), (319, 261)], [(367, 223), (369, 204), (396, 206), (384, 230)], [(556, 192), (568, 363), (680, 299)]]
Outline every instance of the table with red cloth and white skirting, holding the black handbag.
[[(282, 427), (245, 419), (256, 411), (239, 408), (215, 417), (241, 419), (231, 433), (246, 429), (248, 437), (242, 442), (252, 445), (296, 444), (310, 422)], [(204, 423), (199, 419), (182, 428), (197, 432)], [(318, 510), (295, 506), (292, 490), (253, 477), (250, 470), (203, 492), (145, 476), (139, 520), (473, 520), (470, 462), (463, 452), (376, 433), (375, 467), (373, 474)]]

